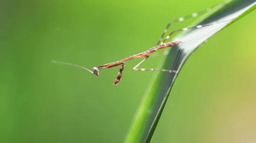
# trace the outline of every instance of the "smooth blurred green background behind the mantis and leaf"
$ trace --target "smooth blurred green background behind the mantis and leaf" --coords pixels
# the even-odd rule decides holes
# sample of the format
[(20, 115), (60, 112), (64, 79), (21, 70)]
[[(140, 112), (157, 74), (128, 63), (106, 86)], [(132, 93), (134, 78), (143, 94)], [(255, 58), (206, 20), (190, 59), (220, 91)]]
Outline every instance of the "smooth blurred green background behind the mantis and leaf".
[[(51, 60), (91, 69), (123, 59), (156, 45), (170, 20), (221, 2), (2, 0), (0, 142), (121, 143), (153, 72), (133, 71), (141, 59), (128, 61), (114, 86), (119, 67), (97, 77)], [(256, 141), (255, 17), (225, 28), (188, 59), (152, 143)]]

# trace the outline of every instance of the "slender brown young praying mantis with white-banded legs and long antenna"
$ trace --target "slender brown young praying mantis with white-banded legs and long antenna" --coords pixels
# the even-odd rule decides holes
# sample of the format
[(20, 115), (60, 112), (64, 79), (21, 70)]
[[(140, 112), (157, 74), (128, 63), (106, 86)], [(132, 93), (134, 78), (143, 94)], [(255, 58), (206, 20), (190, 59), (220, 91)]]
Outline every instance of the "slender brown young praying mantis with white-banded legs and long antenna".
[[(223, 5), (225, 4), (225, 2), (221, 3), (221, 4), (218, 4), (216, 6), (219, 6), (219, 5)], [(163, 49), (163, 48), (167, 48), (167, 47), (171, 47), (171, 46), (175, 46), (175, 45), (178, 45), (180, 44), (182, 41), (172, 41), (172, 42), (167, 42), (167, 43), (164, 43), (167, 39), (169, 39), (169, 37), (174, 34), (175, 32), (180, 32), (180, 31), (187, 31), (189, 29), (195, 29), (195, 28), (202, 28), (202, 27), (206, 27), (206, 26), (209, 26), (209, 25), (214, 25), (214, 24), (217, 24), (217, 23), (221, 23), (221, 22), (227, 22), (227, 21), (230, 21), (230, 20), (225, 20), (225, 21), (221, 21), (221, 22), (214, 22), (214, 23), (209, 23), (209, 24), (204, 24), (204, 25), (197, 25), (197, 26), (193, 26), (193, 27), (189, 27), (189, 28), (182, 28), (182, 29), (177, 29), (177, 30), (174, 30), (172, 31), (168, 36), (166, 36), (166, 38), (161, 42), (163, 36), (166, 34), (166, 32), (168, 31), (168, 28), (170, 27), (171, 24), (175, 23), (175, 22), (181, 22), (183, 20), (186, 20), (186, 19), (189, 19), (191, 17), (197, 17), (199, 15), (202, 15), (202, 14), (205, 14), (207, 13), (208, 11), (210, 11), (212, 8), (214, 8), (215, 6), (212, 6), (210, 8), (207, 8), (203, 11), (199, 11), (197, 13), (193, 13), (193, 14), (189, 14), (187, 16), (184, 16), (184, 17), (180, 17), (176, 20), (173, 20), (173, 21), (170, 21), (168, 23), (168, 25), (166, 26), (165, 30), (163, 31), (163, 34), (161, 35), (159, 41), (157, 42), (157, 45), (153, 48), (150, 48), (142, 53), (138, 53), (136, 55), (133, 55), (133, 56), (130, 56), (126, 59), (122, 59), (122, 60), (119, 60), (119, 61), (116, 61), (116, 62), (111, 62), (111, 63), (108, 63), (108, 64), (104, 64), (104, 65), (101, 65), (99, 67), (93, 67), (93, 70), (89, 70), (85, 67), (82, 67), (80, 65), (77, 65), (77, 64), (72, 64), (72, 63), (67, 63), (67, 62), (58, 62), (58, 61), (55, 61), (53, 60), (52, 62), (55, 63), (55, 64), (67, 64), (67, 65), (72, 65), (72, 66), (76, 66), (76, 67), (80, 67), (80, 68), (83, 68), (85, 70), (88, 70), (90, 73), (93, 73), (97, 76), (99, 76), (99, 70), (102, 69), (102, 68), (111, 68), (111, 67), (116, 67), (118, 65), (121, 65), (121, 68), (119, 70), (119, 73), (116, 77), (116, 80), (114, 82), (114, 85), (117, 85), (119, 83), (119, 81), (121, 80), (121, 76), (122, 76), (122, 71), (124, 70), (125, 68), (125, 62), (128, 61), (128, 60), (131, 60), (131, 59), (137, 59), (137, 58), (144, 58), (139, 64), (137, 64), (135, 67), (133, 67), (133, 70), (141, 70), (141, 71), (144, 71), (144, 70), (151, 70), (151, 71), (166, 71), (166, 72), (169, 72), (169, 73), (177, 73), (175, 70), (165, 70), (165, 69), (153, 69), (153, 68), (137, 68), (141, 63), (143, 63), (148, 57), (149, 57), (149, 54), (151, 53), (154, 53), (156, 50), (159, 50), (159, 49)], [(231, 19), (233, 20), (233, 19)], [(160, 43), (161, 42), (161, 43)], [(160, 44), (159, 44), (160, 43)]]

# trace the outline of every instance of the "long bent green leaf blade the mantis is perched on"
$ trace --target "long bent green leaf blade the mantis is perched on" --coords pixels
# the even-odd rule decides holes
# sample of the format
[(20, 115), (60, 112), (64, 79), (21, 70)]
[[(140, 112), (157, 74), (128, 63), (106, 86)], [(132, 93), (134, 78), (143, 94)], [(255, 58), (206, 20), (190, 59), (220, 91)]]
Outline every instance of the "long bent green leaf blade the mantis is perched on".
[[(255, 8), (256, 0), (233, 0), (224, 7), (218, 8), (202, 17), (192, 26), (230, 20), (232, 18), (236, 19), (179, 34), (174, 40), (183, 42), (171, 48), (169, 55), (160, 62), (159, 67), (180, 72), (188, 57), (209, 37), (244, 17)], [(151, 141), (177, 75), (165, 72), (154, 73), (140, 107), (134, 116), (134, 121), (128, 131), (125, 143), (149, 143)]]

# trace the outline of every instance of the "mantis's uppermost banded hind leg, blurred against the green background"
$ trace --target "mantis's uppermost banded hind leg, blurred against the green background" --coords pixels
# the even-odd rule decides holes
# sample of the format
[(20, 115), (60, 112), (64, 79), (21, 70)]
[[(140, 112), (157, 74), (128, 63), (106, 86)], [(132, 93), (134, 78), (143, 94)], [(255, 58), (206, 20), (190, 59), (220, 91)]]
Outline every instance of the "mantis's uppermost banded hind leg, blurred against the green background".
[[(170, 22), (168, 23), (168, 25), (166, 26), (166, 28), (164, 29), (163, 34), (161, 35), (160, 39), (158, 40), (157, 45), (159, 45), (159, 43), (162, 41), (163, 36), (166, 34), (166, 32), (168, 31), (169, 27), (170, 27), (173, 23), (181, 22), (181, 21), (183, 21), (183, 20), (187, 20), (187, 19), (192, 18), (192, 17), (197, 17), (197, 16), (200, 16), (200, 15), (206, 14), (208, 11), (211, 11), (213, 8), (218, 7), (218, 6), (224, 6), (226, 3), (227, 3), (227, 1), (224, 1), (224, 2), (222, 2), (222, 3), (219, 3), (219, 4), (217, 4), (217, 5), (214, 5), (214, 6), (212, 6), (212, 7), (209, 7), (209, 8), (207, 8), (207, 9), (202, 10), (202, 11), (195, 12), (195, 13), (186, 15), (186, 16), (184, 16), (184, 17), (180, 17), (180, 18), (178, 18), (178, 19), (176, 19), (176, 20), (170, 21)], [(156, 46), (157, 46), (157, 45), (156, 45)]]

